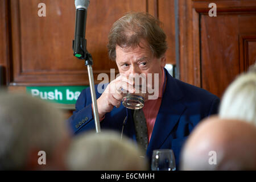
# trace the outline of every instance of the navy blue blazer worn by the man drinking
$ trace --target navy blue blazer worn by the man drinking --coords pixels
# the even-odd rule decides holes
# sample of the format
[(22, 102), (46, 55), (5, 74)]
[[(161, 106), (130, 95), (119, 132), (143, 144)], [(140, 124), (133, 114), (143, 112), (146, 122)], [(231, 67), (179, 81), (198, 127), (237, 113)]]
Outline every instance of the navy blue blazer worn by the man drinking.
[[(166, 74), (166, 89), (156, 117), (154, 129), (147, 148), (147, 157), (151, 162), (152, 151), (155, 149), (171, 148), (174, 151), (176, 168), (179, 169), (181, 148), (193, 128), (203, 118), (217, 114), (220, 102), (217, 96), (207, 90), (197, 88)], [(101, 94), (97, 92), (96, 97)], [(95, 130), (92, 112), (90, 89), (82, 90), (76, 102), (76, 110), (68, 119), (68, 124), (74, 134)], [(122, 132), (136, 141), (132, 110), (122, 104), (114, 107), (100, 122), (101, 129), (112, 129)]]

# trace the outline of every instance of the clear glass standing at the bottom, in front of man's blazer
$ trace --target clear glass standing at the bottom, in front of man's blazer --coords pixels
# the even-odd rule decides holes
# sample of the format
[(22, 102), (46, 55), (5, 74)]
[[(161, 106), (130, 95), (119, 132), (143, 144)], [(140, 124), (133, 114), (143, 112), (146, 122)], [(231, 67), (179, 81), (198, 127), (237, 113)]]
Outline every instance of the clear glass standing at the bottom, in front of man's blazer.
[(152, 171), (175, 171), (175, 157), (171, 149), (154, 150), (151, 162)]

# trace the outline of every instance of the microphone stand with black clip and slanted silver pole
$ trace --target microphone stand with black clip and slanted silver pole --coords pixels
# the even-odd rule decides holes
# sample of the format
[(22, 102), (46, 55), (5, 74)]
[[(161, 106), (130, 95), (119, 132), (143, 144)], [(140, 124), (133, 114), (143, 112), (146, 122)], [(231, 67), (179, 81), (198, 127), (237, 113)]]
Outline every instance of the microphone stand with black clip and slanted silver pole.
[[(74, 48), (74, 40), (73, 40), (73, 48)], [(86, 50), (86, 39), (80, 38), (80, 48), (81, 48), (80, 50), (82, 51), (81, 54), (74, 52), (74, 56), (76, 56), (79, 59), (85, 60), (85, 65), (87, 66), (89, 82), (90, 82), (90, 94), (92, 96), (93, 116), (94, 116), (94, 123), (96, 127), (96, 133), (100, 133), (101, 132), (100, 119), (98, 116), (98, 106), (97, 106), (93, 70), (92, 70), (93, 59), (92, 59), (92, 55), (90, 55), (90, 53)]]

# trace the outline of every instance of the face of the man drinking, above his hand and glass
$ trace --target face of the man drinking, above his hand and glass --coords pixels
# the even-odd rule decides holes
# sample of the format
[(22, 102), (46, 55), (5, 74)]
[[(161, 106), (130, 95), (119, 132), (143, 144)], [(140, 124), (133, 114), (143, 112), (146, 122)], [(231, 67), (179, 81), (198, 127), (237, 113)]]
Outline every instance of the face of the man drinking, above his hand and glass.
[[(141, 75), (144, 73), (146, 76), (148, 73), (152, 73), (152, 85), (154, 85), (154, 73), (159, 74), (159, 80), (162, 78), (162, 70), (166, 65), (165, 56), (157, 59), (152, 56), (149, 45), (146, 40), (141, 40), (139, 46), (135, 48), (121, 48), (115, 47), (116, 63), (119, 69), (119, 73), (129, 77), (134, 74)], [(158, 82), (159, 82), (158, 80)]]

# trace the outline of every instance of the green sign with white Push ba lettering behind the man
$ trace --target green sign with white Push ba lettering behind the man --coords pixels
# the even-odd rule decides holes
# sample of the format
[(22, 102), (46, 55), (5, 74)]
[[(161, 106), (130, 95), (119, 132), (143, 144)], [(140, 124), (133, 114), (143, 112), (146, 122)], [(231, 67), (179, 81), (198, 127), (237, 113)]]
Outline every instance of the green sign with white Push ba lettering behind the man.
[(57, 104), (76, 104), (81, 91), (88, 86), (27, 86), (28, 94)]

